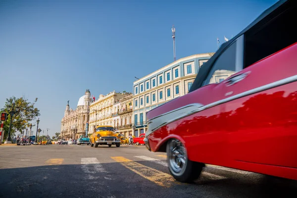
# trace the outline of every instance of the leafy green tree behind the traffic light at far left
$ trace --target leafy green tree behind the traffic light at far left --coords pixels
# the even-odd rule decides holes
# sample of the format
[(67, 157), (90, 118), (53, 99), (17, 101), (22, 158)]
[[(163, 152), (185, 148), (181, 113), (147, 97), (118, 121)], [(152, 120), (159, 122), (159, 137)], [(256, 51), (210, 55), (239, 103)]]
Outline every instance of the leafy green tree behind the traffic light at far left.
[[(30, 102), (24, 97), (17, 99), (14, 96), (6, 99), (4, 107), (1, 109), (1, 111), (9, 112), (9, 110), (12, 110), (11, 108), (13, 103), (15, 103), (14, 110), (16, 110), (16, 107), (18, 107), (18, 111), (12, 117), (10, 129), (11, 137), (15, 136), (16, 131), (24, 131), (26, 128), (29, 128), (30, 123), (32, 123), (37, 118), (37, 116), (40, 115), (39, 109), (35, 107), (37, 100), (38, 98), (36, 98), (33, 102)], [(11, 116), (9, 114), (8, 119), (4, 122), (3, 126), (3, 130), (5, 131), (3, 140), (6, 140), (8, 136), (10, 119)], [(35, 126), (35, 124), (32, 123), (32, 126)]]

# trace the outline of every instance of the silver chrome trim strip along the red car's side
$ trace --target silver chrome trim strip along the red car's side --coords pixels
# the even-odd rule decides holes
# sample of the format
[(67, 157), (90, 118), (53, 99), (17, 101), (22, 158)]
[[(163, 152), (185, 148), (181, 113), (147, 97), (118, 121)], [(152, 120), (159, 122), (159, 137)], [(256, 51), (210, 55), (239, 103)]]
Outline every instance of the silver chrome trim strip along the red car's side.
[[(181, 118), (192, 115), (194, 113), (198, 113), (198, 112), (203, 111), (205, 109), (208, 109), (210, 107), (217, 106), (217, 105), (220, 105), (220, 104), (223, 104), (223, 103), (235, 100), (235, 99), (240, 99), (240, 98), (243, 98), (243, 97), (246, 97), (246, 96), (249, 96), (249, 95), (252, 95), (252, 94), (256, 94), (256, 93), (259, 93), (259, 92), (262, 92), (262, 91), (265, 91), (265, 90), (269, 90), (269, 89), (272, 89), (272, 88), (275, 88), (275, 87), (286, 85), (288, 83), (293, 83), (295, 81), (297, 81), (297, 75), (291, 76), (291, 77), (288, 77), (288, 78), (285, 78), (285, 79), (282, 79), (282, 80), (279, 80), (279, 81), (276, 81), (276, 82), (273, 82), (273, 83), (269, 83), (269, 84), (263, 85), (261, 87), (254, 88), (252, 90), (248, 90), (248, 91), (243, 92), (241, 94), (231, 96), (231, 97), (226, 98), (226, 99), (221, 99), (221, 100), (212, 102), (212, 103), (204, 105), (204, 106), (202, 104), (199, 104), (199, 103), (193, 103), (193, 104), (188, 104), (186, 106), (182, 106), (182, 107), (174, 109), (172, 111), (163, 113), (163, 114), (158, 115), (158, 116), (156, 116), (156, 117), (154, 117), (154, 118), (147, 121), (148, 131), (146, 132), (146, 137), (148, 137), (155, 130), (157, 130), (157, 129), (159, 129), (159, 128), (161, 128), (161, 127), (163, 127), (163, 126), (165, 126), (165, 125), (167, 125), (167, 124), (169, 124), (171, 122), (174, 122), (174, 121), (179, 120)], [(167, 120), (167, 121), (164, 122), (164, 120)]]

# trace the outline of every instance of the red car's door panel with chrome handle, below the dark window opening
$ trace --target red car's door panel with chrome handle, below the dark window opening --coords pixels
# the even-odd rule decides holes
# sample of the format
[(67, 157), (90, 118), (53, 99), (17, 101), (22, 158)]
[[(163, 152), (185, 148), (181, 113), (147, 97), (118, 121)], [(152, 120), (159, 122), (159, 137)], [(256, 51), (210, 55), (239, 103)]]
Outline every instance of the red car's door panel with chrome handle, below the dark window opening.
[(234, 163), (297, 167), (296, 53), (297, 44), (223, 81), (222, 113)]

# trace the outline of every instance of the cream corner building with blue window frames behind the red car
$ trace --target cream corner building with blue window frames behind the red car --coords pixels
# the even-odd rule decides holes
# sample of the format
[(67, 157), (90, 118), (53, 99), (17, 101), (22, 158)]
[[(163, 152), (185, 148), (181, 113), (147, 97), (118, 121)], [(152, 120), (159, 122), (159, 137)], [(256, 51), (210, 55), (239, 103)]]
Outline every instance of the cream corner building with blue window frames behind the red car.
[(133, 135), (147, 130), (146, 112), (187, 94), (199, 68), (214, 53), (201, 53), (176, 60), (133, 83)]

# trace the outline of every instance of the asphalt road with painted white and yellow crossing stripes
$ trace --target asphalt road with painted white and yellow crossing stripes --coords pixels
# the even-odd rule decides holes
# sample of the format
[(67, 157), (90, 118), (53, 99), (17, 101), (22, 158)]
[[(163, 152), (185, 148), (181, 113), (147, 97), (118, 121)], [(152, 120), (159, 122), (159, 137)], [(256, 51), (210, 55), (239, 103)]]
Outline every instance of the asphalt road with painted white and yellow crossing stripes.
[[(1, 198), (295, 197), (297, 181), (207, 165), (192, 184), (144, 146), (0, 146)], [(295, 195), (295, 196), (294, 196)]]

